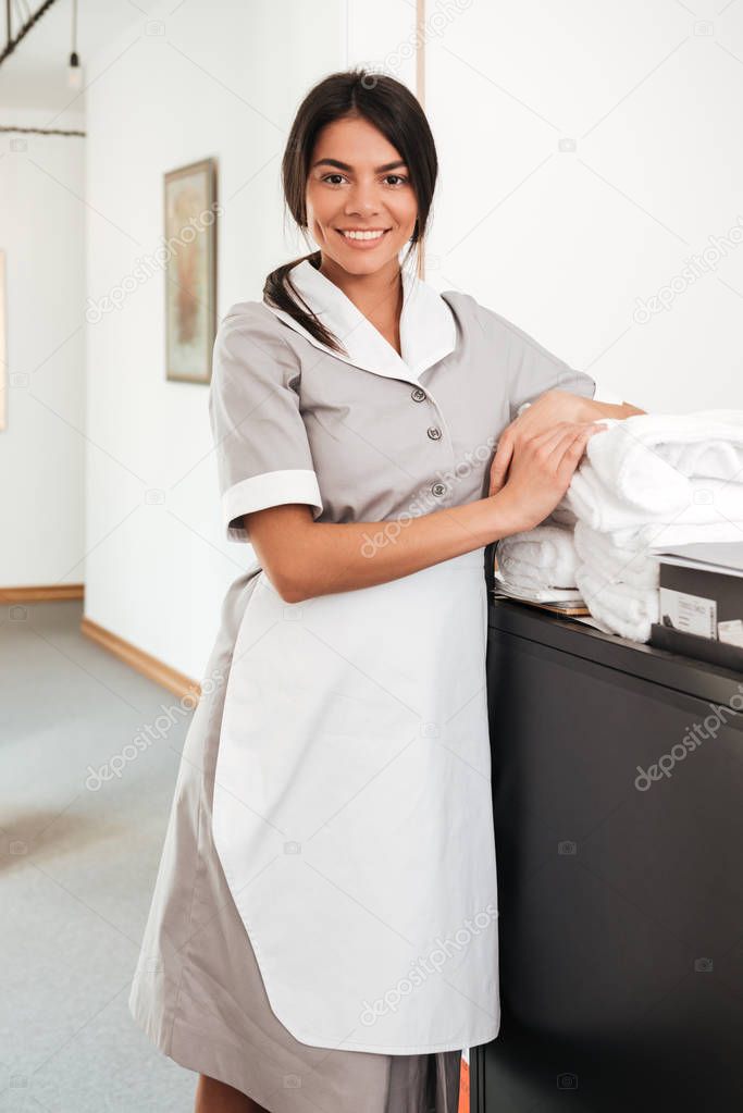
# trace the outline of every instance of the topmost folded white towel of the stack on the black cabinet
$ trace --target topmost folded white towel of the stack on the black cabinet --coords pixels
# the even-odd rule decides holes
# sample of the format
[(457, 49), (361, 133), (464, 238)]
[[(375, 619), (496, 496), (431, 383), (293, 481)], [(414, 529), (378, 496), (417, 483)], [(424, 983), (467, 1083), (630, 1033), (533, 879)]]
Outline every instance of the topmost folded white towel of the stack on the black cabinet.
[[(743, 411), (600, 418), (561, 505), (593, 529), (743, 522)], [(626, 538), (626, 533), (624, 536)]]

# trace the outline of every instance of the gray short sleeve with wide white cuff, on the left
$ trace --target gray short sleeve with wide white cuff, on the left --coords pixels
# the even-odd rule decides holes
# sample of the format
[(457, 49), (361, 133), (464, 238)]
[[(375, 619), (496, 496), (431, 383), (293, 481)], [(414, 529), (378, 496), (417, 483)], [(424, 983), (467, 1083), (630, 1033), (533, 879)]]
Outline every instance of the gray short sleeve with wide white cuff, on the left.
[(261, 303), (232, 306), (217, 329), (209, 387), (222, 528), (229, 541), (249, 542), (240, 519), (254, 510), (301, 502), (313, 508), (315, 519), (323, 512), (299, 377), (296, 357)]

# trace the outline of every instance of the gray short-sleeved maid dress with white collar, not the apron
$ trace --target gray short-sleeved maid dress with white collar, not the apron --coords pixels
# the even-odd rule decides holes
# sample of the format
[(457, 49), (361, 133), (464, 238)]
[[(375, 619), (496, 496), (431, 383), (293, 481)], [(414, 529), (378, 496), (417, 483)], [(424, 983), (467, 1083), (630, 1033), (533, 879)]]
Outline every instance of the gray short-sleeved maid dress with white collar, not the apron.
[[(231, 540), (248, 540), (242, 514), (277, 503), (308, 503), (320, 521), (384, 522), (412, 504), (424, 513), (483, 498), (493, 451), (476, 449), (493, 445), (524, 402), (554, 387), (587, 397), (595, 392), (591, 376), (470, 296), (439, 296), (412, 278), (403, 361), (324, 283), (333, 285), (309, 276), (305, 292), (314, 289), (320, 302), (327, 293), (324, 319), (346, 344), (347, 358), (259, 302), (232, 306), (220, 325), (209, 403)], [(427, 435), (432, 429), (436, 436)], [(457, 466), (465, 457), (467, 466)], [(271, 1113), (456, 1113), (462, 1048), (379, 1054), (314, 1046), (271, 1008), (212, 837), (226, 680), (260, 574), (254, 563), (222, 603), (130, 1011), (164, 1054)], [(483, 637), (479, 626), (472, 637)], [(296, 930), (305, 929), (299, 917)]]

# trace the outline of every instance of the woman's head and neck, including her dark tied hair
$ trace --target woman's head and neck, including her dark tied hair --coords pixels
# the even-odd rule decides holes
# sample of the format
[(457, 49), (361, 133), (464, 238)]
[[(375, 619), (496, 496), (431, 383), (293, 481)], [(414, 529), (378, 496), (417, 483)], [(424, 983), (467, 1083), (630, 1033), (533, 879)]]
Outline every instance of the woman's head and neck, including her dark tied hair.
[[(286, 203), (320, 248), (317, 268), (398, 353), (400, 270), (425, 233), (437, 174), (434, 138), (414, 95), (361, 71), (353, 91), (335, 78), (309, 91), (284, 156)], [(343, 352), (339, 338), (293, 296), (294, 265), (268, 276), (266, 302)]]

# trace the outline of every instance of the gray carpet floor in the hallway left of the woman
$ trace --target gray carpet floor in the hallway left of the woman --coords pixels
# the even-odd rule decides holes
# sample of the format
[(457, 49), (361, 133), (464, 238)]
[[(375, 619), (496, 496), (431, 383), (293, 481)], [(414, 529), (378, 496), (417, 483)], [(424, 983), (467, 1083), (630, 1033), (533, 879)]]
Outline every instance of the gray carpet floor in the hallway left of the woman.
[[(190, 1113), (196, 1075), (127, 1008), (190, 713), (81, 617), (0, 607), (0, 1113)], [(91, 777), (168, 708), (165, 737)]]

